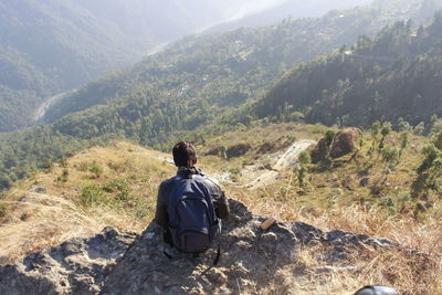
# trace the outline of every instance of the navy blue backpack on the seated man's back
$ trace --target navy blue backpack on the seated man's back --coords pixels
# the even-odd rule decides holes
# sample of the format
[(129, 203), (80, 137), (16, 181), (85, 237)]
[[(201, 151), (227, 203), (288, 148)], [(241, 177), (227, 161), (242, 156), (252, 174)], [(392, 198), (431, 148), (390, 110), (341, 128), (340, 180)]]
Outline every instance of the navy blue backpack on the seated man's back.
[(173, 178), (168, 206), (170, 242), (183, 253), (204, 252), (221, 232), (204, 179), (202, 175)]

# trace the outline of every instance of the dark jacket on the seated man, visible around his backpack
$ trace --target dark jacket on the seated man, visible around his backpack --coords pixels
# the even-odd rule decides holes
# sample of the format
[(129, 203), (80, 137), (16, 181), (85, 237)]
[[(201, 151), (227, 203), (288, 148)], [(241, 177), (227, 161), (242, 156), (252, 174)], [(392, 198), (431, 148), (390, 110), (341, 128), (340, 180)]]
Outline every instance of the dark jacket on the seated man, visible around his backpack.
[[(189, 175), (201, 175), (204, 173), (198, 168), (186, 168), (180, 167), (177, 171), (177, 176), (180, 177), (188, 177)], [(227, 219), (229, 217), (229, 204), (225, 199), (224, 192), (221, 190), (221, 187), (217, 179), (207, 177), (204, 180), (204, 185), (208, 188), (210, 196), (212, 197), (214, 211), (217, 217), (220, 219)], [(173, 178), (165, 180), (159, 186), (158, 197), (157, 197), (157, 210), (155, 212), (155, 222), (166, 228), (169, 223), (169, 215), (167, 212), (168, 203), (169, 203), (169, 196), (172, 193), (173, 190)]]

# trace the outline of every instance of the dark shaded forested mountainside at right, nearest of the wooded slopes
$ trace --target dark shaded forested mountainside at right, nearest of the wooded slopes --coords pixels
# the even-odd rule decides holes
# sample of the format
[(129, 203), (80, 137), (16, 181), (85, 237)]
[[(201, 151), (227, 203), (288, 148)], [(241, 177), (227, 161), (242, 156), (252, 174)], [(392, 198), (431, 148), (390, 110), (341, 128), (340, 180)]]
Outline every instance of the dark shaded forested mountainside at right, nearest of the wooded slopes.
[(441, 117), (442, 12), (427, 28), (398, 22), (297, 66), (253, 108), (260, 117), (301, 112), (307, 122), (347, 126)]

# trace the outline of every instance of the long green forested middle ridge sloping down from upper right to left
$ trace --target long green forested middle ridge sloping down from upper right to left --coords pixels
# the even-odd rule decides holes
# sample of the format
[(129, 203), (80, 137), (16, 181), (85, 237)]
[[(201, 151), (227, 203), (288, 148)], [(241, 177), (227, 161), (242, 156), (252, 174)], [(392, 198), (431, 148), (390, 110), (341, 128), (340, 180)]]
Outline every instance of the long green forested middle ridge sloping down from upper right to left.
[[(422, 13), (421, 6), (413, 7), (418, 12), (410, 9), (414, 0), (403, 1), (408, 4), (394, 13), (383, 10), (386, 6), (359, 8), (320, 19), (189, 36), (60, 101), (46, 117), (54, 119), (51, 125), (2, 135), (3, 187), (44, 167), (45, 160), (108, 138), (159, 145), (176, 130), (234, 124), (230, 119), (236, 109), (263, 95), (292, 65), (352, 44), (357, 35), (382, 24)], [(240, 114), (240, 120), (250, 115)]]

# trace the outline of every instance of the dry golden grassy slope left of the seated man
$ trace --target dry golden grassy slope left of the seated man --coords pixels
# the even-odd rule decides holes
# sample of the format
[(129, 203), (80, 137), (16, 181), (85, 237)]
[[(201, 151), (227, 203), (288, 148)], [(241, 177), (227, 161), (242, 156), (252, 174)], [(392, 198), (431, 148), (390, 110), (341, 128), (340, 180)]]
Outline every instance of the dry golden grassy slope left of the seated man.
[[(140, 232), (154, 217), (159, 181), (175, 171), (164, 157), (113, 143), (69, 159), (67, 168), (54, 165), (25, 180), (2, 202), (8, 213), (0, 219), (0, 264), (74, 236), (95, 234), (106, 225)], [(98, 177), (93, 166), (101, 167)], [(65, 169), (67, 178), (60, 181)], [(31, 186), (46, 192), (36, 193)], [(104, 198), (85, 204), (82, 193), (91, 186)]]

